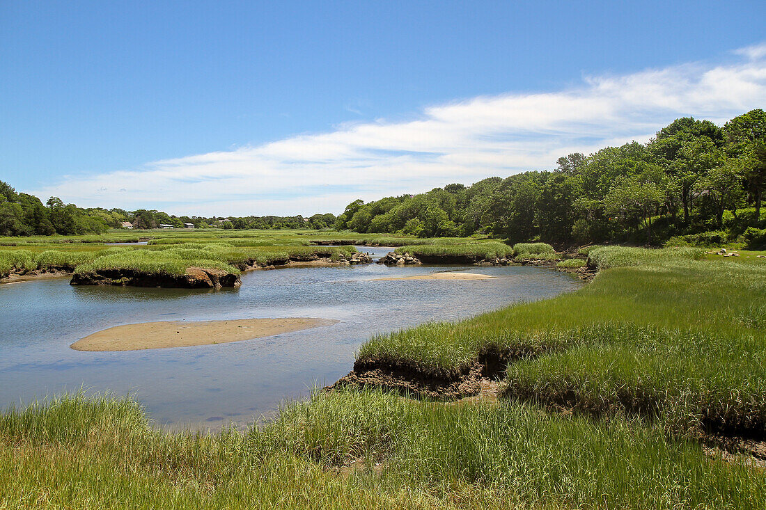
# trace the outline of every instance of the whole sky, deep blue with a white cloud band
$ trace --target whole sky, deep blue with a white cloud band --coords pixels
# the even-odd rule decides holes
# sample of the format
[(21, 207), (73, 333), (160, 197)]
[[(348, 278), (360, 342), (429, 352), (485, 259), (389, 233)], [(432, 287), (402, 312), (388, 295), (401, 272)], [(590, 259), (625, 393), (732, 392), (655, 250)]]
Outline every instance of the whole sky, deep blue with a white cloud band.
[(766, 2), (8, 2), (0, 180), (339, 212), (766, 107)]

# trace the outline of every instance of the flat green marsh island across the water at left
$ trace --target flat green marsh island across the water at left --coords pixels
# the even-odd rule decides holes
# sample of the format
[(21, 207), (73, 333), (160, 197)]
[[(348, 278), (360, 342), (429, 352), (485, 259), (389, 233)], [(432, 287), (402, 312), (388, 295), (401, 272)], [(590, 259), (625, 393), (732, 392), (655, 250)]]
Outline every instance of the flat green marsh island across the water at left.
[[(234, 286), (239, 273), (290, 262), (352, 257), (352, 246), (309, 246), (296, 234), (224, 231), (5, 238), (0, 240), (0, 279), (74, 273), (73, 284), (136, 286)], [(15, 240), (11, 240), (15, 239)], [(111, 243), (146, 244), (110, 246)]]

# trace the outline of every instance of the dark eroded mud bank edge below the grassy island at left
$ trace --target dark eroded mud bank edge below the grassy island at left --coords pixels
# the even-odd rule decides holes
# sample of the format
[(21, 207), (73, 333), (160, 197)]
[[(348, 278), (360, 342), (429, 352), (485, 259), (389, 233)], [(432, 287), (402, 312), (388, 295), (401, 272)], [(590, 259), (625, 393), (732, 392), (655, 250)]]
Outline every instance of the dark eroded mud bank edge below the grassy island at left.
[(180, 275), (146, 273), (132, 269), (102, 269), (88, 273), (74, 273), (69, 284), (218, 289), (240, 286), (241, 280), (236, 274), (203, 267), (189, 267), (185, 274)]

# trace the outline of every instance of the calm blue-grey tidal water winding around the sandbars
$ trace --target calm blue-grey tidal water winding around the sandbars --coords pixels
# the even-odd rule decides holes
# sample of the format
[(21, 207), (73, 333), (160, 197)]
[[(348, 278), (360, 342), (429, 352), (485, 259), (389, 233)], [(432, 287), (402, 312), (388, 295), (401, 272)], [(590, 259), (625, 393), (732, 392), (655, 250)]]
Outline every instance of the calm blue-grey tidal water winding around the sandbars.
[[(359, 247), (381, 256), (388, 248)], [(373, 257), (377, 258), (377, 257)], [(347, 374), (371, 335), (476, 315), (577, 289), (535, 267), (449, 266), (493, 280), (370, 281), (444, 267), (309, 267), (254, 271), (239, 289), (199, 291), (70, 286), (69, 278), (0, 285), (0, 407), (62, 391), (133, 394), (171, 428), (218, 428), (271, 414), (314, 384)], [(149, 351), (82, 352), (83, 336), (162, 320), (323, 317), (335, 325), (246, 342)]]

